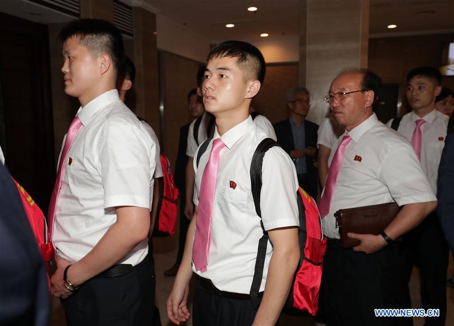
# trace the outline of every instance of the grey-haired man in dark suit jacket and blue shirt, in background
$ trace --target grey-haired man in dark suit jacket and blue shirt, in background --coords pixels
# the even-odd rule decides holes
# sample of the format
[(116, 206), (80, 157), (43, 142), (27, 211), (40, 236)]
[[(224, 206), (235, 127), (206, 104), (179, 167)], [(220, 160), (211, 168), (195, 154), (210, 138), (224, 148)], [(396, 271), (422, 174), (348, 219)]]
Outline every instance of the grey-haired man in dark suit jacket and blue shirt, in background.
[(305, 88), (290, 89), (287, 102), (289, 118), (273, 125), (277, 142), (295, 162), (300, 187), (316, 199), (318, 180), (314, 162), (317, 160), (318, 125), (306, 120), (311, 106), (310, 94)]

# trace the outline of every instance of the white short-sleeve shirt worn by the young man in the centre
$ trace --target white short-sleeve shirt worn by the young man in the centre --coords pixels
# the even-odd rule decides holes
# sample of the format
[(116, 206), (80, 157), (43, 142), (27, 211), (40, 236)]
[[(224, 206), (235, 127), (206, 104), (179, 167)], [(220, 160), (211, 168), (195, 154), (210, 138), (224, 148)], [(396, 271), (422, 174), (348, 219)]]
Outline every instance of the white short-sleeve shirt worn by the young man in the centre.
[[(268, 135), (249, 117), (220, 138), (219, 168), (211, 215), (211, 242), (207, 271), (195, 273), (210, 279), (222, 291), (249, 293), (254, 275), (257, 247), (263, 235), (251, 192), (252, 155)], [(217, 129), (214, 138), (219, 138)], [(198, 205), (200, 184), (212, 147), (210, 141), (196, 171), (194, 204)], [(270, 148), (263, 159), (260, 208), (266, 230), (297, 226), (298, 181), (290, 156), (280, 147)], [(272, 247), (268, 242), (260, 291), (265, 288)]]

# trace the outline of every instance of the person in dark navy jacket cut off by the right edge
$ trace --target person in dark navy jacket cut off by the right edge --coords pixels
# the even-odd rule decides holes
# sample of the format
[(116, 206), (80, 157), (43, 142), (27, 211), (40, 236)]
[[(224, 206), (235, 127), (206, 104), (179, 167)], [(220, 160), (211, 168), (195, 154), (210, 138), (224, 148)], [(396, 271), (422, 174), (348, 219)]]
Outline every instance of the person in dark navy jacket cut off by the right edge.
[[(454, 253), (454, 133), (449, 131), (438, 167), (437, 215), (449, 249)], [(447, 284), (454, 286), (454, 275), (447, 280)]]

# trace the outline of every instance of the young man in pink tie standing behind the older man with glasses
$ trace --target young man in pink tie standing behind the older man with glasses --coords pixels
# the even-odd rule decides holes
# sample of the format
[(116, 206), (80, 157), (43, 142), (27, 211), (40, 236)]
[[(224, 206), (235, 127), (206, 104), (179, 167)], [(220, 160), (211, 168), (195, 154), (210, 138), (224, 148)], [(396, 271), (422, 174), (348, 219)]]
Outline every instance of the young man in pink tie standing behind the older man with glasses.
[[(444, 147), (449, 117), (435, 110), (441, 91), (441, 74), (433, 67), (418, 67), (407, 75), (407, 101), (412, 112), (402, 117), (398, 132), (412, 143), (421, 168), (437, 193), (438, 166)], [(392, 126), (393, 119), (387, 125)], [(439, 317), (427, 317), (427, 325), (444, 325), (446, 319), (446, 270), (448, 248), (436, 212), (404, 238), (405, 281), (413, 266), (421, 273), (422, 306), (440, 309)], [(410, 298), (407, 298), (410, 301)]]

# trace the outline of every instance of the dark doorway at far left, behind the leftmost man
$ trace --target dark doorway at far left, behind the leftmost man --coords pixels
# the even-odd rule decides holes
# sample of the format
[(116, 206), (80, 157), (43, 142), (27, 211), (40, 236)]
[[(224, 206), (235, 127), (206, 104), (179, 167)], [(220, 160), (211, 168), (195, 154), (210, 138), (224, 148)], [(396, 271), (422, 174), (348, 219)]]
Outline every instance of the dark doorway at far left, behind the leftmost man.
[(0, 13), (0, 144), (44, 212), (55, 179), (48, 48), (45, 25)]

